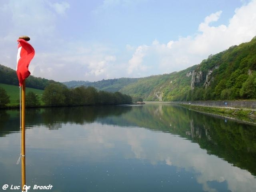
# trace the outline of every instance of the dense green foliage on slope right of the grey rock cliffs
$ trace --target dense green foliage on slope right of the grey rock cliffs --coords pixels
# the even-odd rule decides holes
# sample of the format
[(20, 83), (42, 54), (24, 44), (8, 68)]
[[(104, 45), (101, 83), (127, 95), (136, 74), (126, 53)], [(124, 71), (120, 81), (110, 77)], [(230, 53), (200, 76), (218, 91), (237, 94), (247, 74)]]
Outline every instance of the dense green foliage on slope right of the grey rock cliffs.
[(212, 55), (201, 62), (198, 70), (203, 74), (201, 83), (207, 81), (207, 73), (212, 70), (209, 86), (196, 87), (195, 91), (201, 88), (199, 99), (256, 99), (252, 93), (256, 90), (256, 39)]

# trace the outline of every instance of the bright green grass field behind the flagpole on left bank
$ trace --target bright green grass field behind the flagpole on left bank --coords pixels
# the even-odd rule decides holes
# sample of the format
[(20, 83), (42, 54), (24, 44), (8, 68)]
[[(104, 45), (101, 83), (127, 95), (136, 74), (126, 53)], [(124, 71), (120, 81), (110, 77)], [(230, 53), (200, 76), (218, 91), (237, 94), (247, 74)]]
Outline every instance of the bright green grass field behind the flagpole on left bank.
[[(0, 87), (5, 89), (7, 94), (10, 96), (10, 103), (7, 106), (12, 107), (12, 106), (20, 105), (20, 87), (19, 86), (0, 83)], [(26, 87), (26, 93), (30, 91), (37, 94), (38, 99), (41, 102), (41, 97), (42, 97), (42, 94), (44, 93), (44, 90)]]

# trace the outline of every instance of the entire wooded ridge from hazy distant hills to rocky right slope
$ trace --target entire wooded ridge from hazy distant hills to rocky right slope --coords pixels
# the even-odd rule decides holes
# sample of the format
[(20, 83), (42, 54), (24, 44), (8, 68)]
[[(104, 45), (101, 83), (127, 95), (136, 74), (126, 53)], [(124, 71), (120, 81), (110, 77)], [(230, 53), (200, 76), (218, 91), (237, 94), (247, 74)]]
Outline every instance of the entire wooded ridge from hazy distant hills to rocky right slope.
[[(64, 84), (70, 86), (69, 82)], [(179, 72), (93, 83), (72, 81), (72, 86), (82, 84), (148, 101), (256, 99), (256, 38), (209, 55), (200, 64)]]

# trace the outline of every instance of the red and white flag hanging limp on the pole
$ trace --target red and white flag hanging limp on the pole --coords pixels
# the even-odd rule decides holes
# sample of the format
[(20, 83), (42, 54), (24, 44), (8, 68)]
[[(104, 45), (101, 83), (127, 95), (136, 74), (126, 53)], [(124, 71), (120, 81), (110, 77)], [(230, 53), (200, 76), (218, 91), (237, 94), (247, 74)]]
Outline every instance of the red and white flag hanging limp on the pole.
[(35, 55), (35, 49), (24, 39), (18, 39), (18, 54), (17, 54), (17, 76), (20, 87), (23, 81), (30, 75), (29, 63)]

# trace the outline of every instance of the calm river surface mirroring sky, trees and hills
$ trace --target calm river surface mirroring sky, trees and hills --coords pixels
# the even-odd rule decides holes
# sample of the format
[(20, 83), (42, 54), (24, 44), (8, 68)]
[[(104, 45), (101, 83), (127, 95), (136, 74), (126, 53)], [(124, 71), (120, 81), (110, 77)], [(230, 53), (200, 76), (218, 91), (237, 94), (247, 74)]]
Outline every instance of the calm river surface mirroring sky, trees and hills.
[[(20, 191), (19, 126), (0, 111), (0, 192)], [(26, 110), (26, 184), (52, 185), (32, 192), (255, 192), (255, 162), (255, 125), (175, 105)]]

